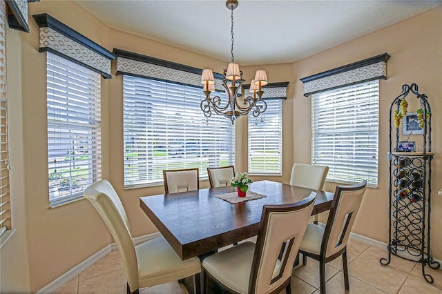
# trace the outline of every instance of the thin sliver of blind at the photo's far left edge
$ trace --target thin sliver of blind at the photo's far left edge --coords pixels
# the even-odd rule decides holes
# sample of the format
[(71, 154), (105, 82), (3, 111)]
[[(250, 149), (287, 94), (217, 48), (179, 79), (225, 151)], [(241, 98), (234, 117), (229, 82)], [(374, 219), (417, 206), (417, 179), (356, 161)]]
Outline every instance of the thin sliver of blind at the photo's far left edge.
[(11, 228), (9, 159), (8, 159), (8, 111), (6, 101), (6, 7), (0, 3), (0, 235)]

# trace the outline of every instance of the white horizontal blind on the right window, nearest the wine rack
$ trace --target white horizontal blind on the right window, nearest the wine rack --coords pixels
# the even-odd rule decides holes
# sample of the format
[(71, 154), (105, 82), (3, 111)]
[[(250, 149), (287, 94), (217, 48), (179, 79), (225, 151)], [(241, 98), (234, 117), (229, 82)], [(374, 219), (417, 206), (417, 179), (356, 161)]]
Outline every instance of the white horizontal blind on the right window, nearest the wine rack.
[(327, 180), (378, 183), (378, 80), (313, 95), (311, 163)]

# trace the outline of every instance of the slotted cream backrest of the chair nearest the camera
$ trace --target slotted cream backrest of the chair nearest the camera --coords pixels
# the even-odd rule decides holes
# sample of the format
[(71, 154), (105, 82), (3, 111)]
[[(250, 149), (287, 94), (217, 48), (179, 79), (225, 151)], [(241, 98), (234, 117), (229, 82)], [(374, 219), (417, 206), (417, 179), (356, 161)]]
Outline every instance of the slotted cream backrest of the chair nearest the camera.
[[(291, 278), (293, 264), (313, 210), (315, 197), (316, 193), (311, 193), (301, 202), (265, 205), (262, 208), (249, 279), (249, 293), (269, 293)], [(280, 264), (279, 273), (273, 277), (276, 264)]]

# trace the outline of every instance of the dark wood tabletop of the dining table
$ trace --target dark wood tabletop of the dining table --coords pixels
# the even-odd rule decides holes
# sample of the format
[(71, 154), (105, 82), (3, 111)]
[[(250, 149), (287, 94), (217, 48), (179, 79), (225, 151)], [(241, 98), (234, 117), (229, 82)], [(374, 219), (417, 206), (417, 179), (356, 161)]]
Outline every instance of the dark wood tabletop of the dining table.
[(316, 193), (312, 215), (329, 210), (334, 194), (271, 181), (253, 182), (249, 191), (261, 199), (231, 204), (215, 195), (231, 187), (146, 196), (140, 206), (181, 259), (204, 255), (258, 233), (262, 206), (299, 202)]

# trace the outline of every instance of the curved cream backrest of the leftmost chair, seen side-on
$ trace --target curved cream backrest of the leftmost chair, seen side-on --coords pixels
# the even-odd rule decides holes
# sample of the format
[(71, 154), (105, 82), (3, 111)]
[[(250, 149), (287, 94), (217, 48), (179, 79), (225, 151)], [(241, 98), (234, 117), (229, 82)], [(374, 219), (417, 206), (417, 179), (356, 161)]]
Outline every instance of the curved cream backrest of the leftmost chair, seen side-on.
[(124, 273), (131, 289), (138, 287), (138, 265), (133, 246), (129, 222), (117, 192), (106, 179), (96, 182), (83, 193), (93, 204), (104, 223), (111, 231), (124, 262)]

